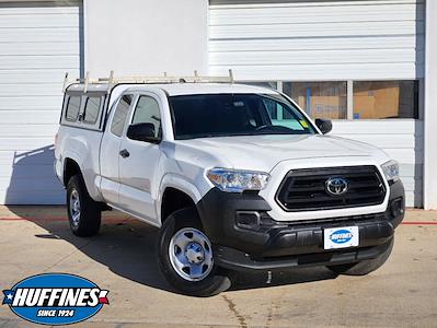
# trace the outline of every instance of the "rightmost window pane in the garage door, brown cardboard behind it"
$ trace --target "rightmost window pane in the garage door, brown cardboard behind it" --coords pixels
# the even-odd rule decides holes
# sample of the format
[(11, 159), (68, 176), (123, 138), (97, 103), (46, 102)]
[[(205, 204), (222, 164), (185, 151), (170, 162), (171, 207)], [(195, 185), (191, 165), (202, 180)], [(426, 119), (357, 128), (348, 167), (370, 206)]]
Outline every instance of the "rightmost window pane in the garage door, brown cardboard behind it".
[(354, 119), (418, 118), (417, 81), (355, 81)]

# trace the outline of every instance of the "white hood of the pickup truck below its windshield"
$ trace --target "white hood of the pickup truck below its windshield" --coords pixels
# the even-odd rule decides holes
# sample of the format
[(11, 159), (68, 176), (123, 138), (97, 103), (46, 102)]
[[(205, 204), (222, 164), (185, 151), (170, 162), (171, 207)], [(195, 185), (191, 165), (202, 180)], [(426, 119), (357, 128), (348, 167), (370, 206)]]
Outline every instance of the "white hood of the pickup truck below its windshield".
[(390, 160), (370, 144), (321, 134), (199, 138), (176, 143), (207, 153), (228, 168), (264, 172), (271, 172), (283, 161), (300, 159), (368, 156), (378, 164)]

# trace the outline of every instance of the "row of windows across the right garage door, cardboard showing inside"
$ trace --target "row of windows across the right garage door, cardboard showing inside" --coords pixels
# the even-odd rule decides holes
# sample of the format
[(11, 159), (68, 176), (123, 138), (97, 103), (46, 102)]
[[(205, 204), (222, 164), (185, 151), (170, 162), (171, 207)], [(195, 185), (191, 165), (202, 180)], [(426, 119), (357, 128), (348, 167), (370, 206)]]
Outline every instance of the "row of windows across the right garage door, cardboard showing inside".
[[(349, 82), (352, 85), (349, 94), (346, 81), (241, 83), (279, 90), (290, 96), (312, 118), (418, 119), (417, 80)], [(350, 108), (347, 107), (347, 96), (350, 99)]]

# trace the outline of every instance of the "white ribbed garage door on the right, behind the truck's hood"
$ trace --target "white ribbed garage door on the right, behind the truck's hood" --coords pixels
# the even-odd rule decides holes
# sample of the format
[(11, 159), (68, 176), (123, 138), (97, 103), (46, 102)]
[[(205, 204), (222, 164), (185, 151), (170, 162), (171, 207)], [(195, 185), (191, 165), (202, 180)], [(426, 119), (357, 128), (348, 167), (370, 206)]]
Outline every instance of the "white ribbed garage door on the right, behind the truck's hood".
[[(231, 68), (240, 81), (422, 83), (424, 12), (422, 0), (210, 0), (209, 73)], [(333, 132), (398, 160), (406, 203), (422, 206), (422, 120), (338, 120)]]

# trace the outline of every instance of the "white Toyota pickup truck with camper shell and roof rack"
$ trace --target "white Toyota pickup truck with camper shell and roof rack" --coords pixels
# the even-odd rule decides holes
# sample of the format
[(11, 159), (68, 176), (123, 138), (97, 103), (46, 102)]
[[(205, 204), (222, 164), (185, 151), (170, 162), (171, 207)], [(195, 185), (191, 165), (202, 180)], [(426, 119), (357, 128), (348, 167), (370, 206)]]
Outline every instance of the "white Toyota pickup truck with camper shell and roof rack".
[(160, 227), (161, 270), (185, 294), (234, 270), (366, 274), (392, 250), (404, 189), (396, 162), (331, 128), (264, 87), (87, 81), (66, 89), (55, 169), (73, 234), (112, 208)]

